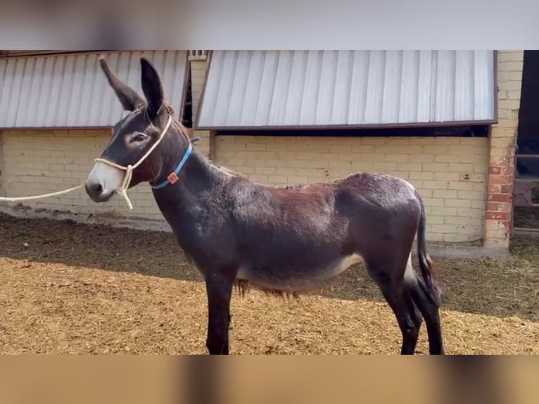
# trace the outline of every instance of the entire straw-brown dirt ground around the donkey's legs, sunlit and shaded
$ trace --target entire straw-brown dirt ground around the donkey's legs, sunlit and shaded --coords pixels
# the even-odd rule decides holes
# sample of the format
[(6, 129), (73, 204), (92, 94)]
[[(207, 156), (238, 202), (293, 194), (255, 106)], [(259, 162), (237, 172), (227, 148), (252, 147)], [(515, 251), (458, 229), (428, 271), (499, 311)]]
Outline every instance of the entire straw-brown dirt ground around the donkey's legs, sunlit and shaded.
[[(539, 354), (539, 239), (436, 260), (452, 354)], [(238, 354), (388, 354), (400, 331), (360, 265), (300, 301), (234, 294)], [(205, 353), (206, 300), (172, 234), (0, 215), (0, 353)], [(423, 326), (417, 353), (427, 353)]]

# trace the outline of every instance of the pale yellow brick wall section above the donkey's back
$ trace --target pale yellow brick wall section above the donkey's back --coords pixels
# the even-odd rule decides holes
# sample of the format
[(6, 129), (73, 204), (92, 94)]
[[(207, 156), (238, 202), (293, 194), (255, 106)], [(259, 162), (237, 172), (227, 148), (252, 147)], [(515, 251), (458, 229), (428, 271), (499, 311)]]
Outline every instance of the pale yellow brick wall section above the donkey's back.
[(424, 197), (429, 241), (483, 238), (487, 138), (217, 135), (215, 161), (273, 185), (323, 182), (358, 171), (395, 175)]

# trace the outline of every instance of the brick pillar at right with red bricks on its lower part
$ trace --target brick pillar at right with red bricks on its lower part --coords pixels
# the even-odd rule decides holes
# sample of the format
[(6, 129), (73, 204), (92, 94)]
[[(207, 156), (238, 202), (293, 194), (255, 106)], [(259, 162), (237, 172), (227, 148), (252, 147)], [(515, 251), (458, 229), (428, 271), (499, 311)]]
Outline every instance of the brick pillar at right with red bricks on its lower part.
[(524, 51), (497, 52), (498, 123), (490, 133), (484, 240), (487, 248), (509, 248), (523, 61)]

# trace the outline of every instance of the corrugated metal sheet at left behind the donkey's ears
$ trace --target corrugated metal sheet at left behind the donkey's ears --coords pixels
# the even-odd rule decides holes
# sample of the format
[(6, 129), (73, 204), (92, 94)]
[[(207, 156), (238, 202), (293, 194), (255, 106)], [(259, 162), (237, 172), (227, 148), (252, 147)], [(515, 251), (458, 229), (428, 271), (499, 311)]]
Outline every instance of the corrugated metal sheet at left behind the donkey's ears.
[[(141, 90), (140, 52), (105, 52), (110, 69)], [(165, 95), (181, 116), (187, 51), (145, 51)], [(110, 127), (122, 110), (99, 66), (98, 53), (0, 59), (0, 128)]]

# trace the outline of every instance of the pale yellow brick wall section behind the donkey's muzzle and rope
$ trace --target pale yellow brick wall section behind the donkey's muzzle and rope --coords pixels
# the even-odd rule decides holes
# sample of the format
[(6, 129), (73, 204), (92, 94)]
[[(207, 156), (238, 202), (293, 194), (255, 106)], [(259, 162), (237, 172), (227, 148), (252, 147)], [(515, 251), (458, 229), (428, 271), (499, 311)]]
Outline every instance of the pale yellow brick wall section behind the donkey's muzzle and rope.
[[(4, 194), (30, 196), (83, 184), (94, 158), (108, 143), (110, 131), (13, 131), (4, 132), (3, 137)], [(129, 191), (129, 198), (133, 210), (118, 197), (108, 203), (94, 203), (84, 189), (40, 201), (25, 201), (24, 205), (72, 213), (113, 213), (162, 220), (148, 184), (134, 187)]]

